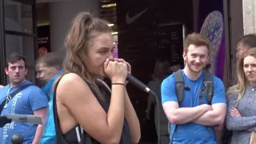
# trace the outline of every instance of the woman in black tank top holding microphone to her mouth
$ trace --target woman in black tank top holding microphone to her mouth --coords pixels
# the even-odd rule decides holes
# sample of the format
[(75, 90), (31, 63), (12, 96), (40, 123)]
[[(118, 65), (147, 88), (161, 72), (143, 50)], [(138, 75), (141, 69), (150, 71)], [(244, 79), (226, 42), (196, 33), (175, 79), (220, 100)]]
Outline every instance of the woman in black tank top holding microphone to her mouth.
[[(57, 143), (138, 143), (138, 117), (126, 91), (130, 64), (114, 59), (110, 27), (86, 12), (66, 36), (64, 73), (54, 86)], [(111, 80), (111, 91), (98, 78)]]

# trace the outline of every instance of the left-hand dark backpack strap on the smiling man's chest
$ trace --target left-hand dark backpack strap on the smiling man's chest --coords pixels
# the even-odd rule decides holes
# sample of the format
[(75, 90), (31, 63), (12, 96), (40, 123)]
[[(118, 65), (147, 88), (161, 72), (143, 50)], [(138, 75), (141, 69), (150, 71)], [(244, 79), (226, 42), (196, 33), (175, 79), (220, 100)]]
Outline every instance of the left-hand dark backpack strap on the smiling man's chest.
[(178, 103), (182, 102), (184, 98), (184, 78), (182, 76), (182, 70), (177, 70), (174, 72), (175, 78), (175, 87), (176, 87), (176, 94), (178, 97)]

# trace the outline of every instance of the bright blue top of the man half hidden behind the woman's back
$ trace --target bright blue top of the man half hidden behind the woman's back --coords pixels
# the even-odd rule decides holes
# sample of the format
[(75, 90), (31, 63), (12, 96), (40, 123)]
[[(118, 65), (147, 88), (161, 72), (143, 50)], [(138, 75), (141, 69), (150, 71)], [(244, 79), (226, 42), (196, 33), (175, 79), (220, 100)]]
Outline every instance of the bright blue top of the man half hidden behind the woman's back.
[(42, 87), (42, 90), (49, 96), (49, 107), (48, 114), (44, 126), (44, 132), (42, 134), (42, 138), (40, 144), (55, 144), (56, 142), (56, 132), (54, 125), (54, 109), (53, 109), (53, 100), (54, 100), (54, 90), (52, 90), (52, 86), (58, 78), (60, 74), (62, 74), (63, 70), (60, 70), (58, 74), (55, 74), (53, 78), (46, 83), (45, 86)]

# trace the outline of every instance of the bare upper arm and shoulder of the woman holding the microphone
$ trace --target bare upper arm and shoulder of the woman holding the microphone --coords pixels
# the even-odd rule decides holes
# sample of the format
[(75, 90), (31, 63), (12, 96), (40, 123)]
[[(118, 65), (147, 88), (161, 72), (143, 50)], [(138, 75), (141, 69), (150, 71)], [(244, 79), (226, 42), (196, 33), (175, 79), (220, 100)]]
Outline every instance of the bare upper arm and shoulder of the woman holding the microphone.
[(56, 97), (58, 106), (62, 106), (62, 109), (58, 109), (58, 116), (63, 131), (68, 131), (74, 126), (68, 126), (70, 123), (79, 123), (94, 138), (106, 131), (106, 111), (78, 74), (65, 74), (61, 78)]

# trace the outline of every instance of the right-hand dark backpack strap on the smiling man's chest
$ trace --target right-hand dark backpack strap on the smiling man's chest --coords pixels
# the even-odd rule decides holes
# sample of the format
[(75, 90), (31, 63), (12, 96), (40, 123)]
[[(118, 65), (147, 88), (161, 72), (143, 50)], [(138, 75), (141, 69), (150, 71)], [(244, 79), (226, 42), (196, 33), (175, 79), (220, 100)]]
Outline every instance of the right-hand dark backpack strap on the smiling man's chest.
[(206, 70), (204, 71), (203, 77), (203, 90), (205, 91), (206, 100), (209, 105), (211, 105), (211, 101), (214, 95), (214, 74), (210, 74)]

